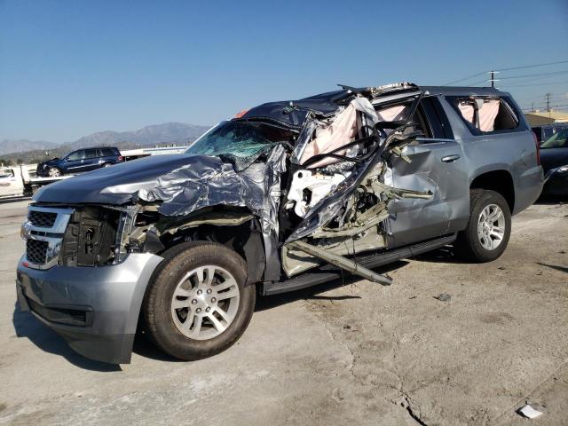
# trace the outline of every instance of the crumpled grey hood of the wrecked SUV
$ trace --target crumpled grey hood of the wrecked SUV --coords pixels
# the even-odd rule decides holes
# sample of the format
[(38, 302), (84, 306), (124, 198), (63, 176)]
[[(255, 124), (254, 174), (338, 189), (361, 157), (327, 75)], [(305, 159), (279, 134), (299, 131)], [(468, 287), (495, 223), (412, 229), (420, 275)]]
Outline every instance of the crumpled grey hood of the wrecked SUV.
[(34, 201), (123, 204), (131, 201), (139, 190), (158, 185), (159, 177), (169, 174), (172, 170), (189, 168), (194, 176), (204, 176), (216, 170), (221, 171), (224, 166), (231, 167), (217, 157), (191, 154), (155, 155), (43, 186), (34, 195)]

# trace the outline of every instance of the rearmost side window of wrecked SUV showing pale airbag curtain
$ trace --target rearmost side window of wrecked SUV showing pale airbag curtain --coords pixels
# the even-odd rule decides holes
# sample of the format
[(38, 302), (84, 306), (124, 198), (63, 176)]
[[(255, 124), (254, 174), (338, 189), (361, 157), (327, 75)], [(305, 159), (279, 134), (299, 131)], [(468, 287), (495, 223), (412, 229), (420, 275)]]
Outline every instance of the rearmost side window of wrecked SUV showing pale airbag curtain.
[(514, 130), (519, 125), (517, 113), (504, 98), (456, 98), (453, 105), (474, 134)]

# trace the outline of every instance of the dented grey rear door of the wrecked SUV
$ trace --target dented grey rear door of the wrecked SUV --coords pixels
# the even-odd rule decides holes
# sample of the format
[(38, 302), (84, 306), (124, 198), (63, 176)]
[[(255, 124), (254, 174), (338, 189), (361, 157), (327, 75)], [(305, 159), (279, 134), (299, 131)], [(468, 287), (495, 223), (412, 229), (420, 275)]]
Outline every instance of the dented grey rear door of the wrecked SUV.
[(398, 188), (431, 191), (430, 200), (402, 199), (389, 204), (389, 246), (398, 247), (461, 231), (469, 217), (469, 178), (463, 167), (463, 147), (436, 97), (425, 97), (415, 114), (424, 133), (404, 154), (393, 156), (390, 182)]

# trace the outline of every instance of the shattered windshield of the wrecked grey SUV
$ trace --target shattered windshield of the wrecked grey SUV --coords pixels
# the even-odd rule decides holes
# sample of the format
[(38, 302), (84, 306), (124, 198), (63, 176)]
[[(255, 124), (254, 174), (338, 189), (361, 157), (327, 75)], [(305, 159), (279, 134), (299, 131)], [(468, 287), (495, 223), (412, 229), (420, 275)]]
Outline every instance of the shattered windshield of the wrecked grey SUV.
[(220, 157), (242, 170), (273, 146), (291, 142), (293, 136), (291, 130), (264, 122), (220, 122), (193, 142), (185, 154)]

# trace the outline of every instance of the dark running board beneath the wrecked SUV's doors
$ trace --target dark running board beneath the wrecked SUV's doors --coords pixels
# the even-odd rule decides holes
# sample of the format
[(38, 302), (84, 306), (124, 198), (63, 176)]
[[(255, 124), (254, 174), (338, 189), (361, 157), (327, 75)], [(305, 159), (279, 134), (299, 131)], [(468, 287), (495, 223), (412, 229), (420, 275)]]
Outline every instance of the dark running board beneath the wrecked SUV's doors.
[[(427, 251), (444, 247), (455, 241), (456, 234), (446, 235), (435, 240), (423, 241), (406, 247), (394, 248), (392, 250), (374, 253), (367, 256), (357, 256), (357, 263), (367, 269), (378, 268), (385, 264), (391, 264), (400, 259), (422, 255)], [(343, 276), (342, 272), (331, 264), (319, 267), (317, 272), (304, 272), (296, 277), (285, 281), (264, 282), (262, 294), (264, 296), (279, 295), (288, 291), (295, 291), (308, 288), (327, 281), (337, 280)]]

